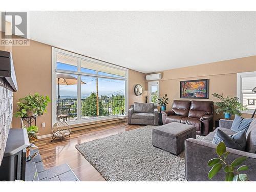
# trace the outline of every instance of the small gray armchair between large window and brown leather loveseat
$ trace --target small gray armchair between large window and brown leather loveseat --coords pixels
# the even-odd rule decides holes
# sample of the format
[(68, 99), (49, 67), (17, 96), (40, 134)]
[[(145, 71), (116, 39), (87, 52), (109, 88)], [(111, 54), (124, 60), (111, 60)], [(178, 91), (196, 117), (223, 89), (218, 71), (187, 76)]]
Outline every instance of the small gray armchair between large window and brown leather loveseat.
[(135, 102), (128, 110), (128, 124), (158, 125), (157, 106)]

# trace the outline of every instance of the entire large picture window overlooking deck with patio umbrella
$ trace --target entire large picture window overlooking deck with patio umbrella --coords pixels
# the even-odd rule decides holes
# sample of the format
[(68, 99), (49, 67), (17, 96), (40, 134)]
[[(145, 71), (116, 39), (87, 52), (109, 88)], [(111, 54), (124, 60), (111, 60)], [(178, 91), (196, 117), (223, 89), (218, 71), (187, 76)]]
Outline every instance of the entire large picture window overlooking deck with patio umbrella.
[(128, 70), (52, 49), (52, 123), (113, 118), (127, 111)]

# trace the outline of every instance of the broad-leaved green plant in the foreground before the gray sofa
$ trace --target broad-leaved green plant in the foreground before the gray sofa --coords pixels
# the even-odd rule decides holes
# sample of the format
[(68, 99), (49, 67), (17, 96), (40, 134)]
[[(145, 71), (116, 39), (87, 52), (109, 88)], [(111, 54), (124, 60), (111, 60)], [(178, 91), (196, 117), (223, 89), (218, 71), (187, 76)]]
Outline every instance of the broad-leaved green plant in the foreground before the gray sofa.
[[(223, 168), (226, 173), (225, 181), (249, 181), (248, 177), (244, 172), (248, 170), (247, 165), (241, 165), (247, 157), (239, 157), (228, 164), (226, 159), (229, 152), (226, 151), (226, 145), (224, 142), (220, 142), (216, 148), (217, 158), (208, 161), (208, 166), (211, 167), (208, 178), (213, 178)], [(238, 167), (239, 166), (239, 167)]]

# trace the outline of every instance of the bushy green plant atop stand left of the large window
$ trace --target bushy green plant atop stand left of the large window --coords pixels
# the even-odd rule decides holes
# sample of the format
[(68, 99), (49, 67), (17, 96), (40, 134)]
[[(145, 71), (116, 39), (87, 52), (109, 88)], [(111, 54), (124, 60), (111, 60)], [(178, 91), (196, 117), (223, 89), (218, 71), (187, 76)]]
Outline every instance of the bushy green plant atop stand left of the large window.
[(46, 107), (48, 102), (50, 102), (50, 98), (48, 96), (42, 96), (38, 93), (34, 95), (28, 95), (24, 98), (20, 98), (17, 102), (18, 110), (15, 113), (16, 117), (27, 117), (34, 115), (42, 115), (46, 113)]

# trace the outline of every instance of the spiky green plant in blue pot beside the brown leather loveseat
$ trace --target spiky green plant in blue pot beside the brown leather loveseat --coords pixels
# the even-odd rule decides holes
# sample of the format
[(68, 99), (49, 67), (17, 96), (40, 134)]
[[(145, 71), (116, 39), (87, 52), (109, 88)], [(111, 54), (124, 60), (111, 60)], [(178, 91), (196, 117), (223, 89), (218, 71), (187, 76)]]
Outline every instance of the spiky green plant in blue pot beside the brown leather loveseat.
[(215, 112), (217, 114), (222, 112), (225, 119), (230, 119), (231, 115), (241, 116), (241, 111), (248, 111), (248, 108), (239, 102), (238, 97), (227, 96), (224, 98), (223, 95), (219, 95), (217, 93), (212, 94), (212, 96), (220, 100), (218, 102), (214, 102), (214, 104), (218, 106), (218, 109), (216, 109)]

